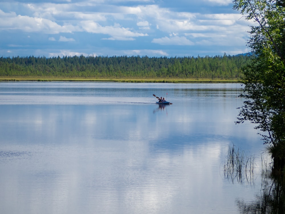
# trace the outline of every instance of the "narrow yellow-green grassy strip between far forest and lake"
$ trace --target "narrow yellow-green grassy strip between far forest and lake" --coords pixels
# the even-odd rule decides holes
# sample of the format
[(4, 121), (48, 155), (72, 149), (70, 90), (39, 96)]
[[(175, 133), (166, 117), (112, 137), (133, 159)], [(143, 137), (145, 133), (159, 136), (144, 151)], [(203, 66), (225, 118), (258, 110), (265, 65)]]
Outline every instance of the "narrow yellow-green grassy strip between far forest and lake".
[(169, 82), (169, 83), (192, 83), (192, 82), (217, 82), (237, 83), (240, 80), (211, 80), (211, 79), (175, 79), (175, 78), (55, 78), (55, 77), (0, 77), (2, 81), (38, 81), (38, 82)]

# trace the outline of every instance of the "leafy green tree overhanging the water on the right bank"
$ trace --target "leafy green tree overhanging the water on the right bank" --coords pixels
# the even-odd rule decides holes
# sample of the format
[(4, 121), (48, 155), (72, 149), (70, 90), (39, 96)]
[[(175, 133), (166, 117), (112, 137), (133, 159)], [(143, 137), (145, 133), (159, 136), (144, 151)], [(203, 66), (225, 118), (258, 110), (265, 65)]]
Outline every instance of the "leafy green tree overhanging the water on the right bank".
[[(253, 21), (247, 43), (251, 63), (243, 70), (246, 100), (238, 122), (249, 120), (270, 145), (274, 169), (285, 168), (285, 8), (281, 1), (235, 0), (233, 9)], [(285, 170), (284, 170), (285, 171)]]

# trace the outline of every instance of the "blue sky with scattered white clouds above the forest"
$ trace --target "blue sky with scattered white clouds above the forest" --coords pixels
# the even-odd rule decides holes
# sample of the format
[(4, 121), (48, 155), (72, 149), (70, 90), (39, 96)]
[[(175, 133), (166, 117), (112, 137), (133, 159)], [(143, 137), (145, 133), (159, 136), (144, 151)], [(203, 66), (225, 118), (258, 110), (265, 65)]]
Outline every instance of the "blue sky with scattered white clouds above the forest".
[(247, 53), (232, 0), (1, 0), (0, 57)]

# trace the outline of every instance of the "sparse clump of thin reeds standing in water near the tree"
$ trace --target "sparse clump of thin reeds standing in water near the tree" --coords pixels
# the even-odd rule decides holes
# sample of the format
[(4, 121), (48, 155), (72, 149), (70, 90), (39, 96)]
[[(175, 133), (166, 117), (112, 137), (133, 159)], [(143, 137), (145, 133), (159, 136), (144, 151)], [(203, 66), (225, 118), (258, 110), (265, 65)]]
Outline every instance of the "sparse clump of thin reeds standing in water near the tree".
[(231, 179), (234, 182), (237, 179), (238, 182), (243, 182), (246, 178), (247, 182), (254, 181), (254, 169), (256, 157), (254, 154), (249, 154), (239, 147), (229, 146), (228, 154), (223, 166), (223, 173), (225, 178)]

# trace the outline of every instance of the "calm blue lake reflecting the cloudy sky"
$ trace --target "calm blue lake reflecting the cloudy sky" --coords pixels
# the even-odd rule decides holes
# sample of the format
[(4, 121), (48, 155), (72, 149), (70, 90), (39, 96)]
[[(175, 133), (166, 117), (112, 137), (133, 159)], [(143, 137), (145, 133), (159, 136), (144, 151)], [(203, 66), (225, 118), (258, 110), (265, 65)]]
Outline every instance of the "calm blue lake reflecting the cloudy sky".
[[(0, 82), (1, 213), (240, 213), (265, 150), (235, 124), (241, 88)], [(223, 174), (233, 144), (256, 157), (250, 180)]]

